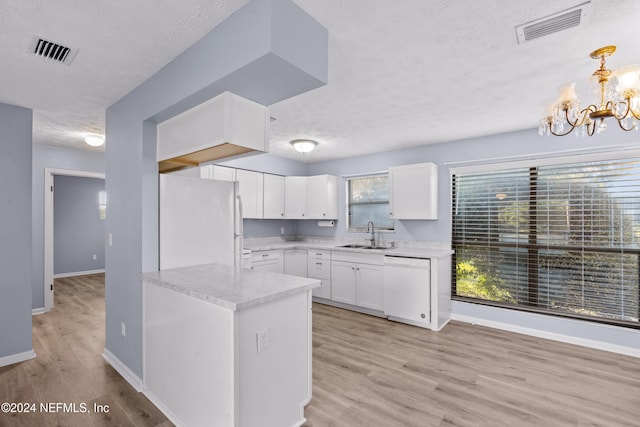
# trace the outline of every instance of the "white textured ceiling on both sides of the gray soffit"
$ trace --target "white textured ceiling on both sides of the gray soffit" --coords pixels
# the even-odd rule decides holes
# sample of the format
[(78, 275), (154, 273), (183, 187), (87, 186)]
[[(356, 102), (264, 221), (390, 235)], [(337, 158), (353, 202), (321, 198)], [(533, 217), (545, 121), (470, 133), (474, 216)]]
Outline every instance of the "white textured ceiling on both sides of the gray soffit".
[[(307, 162), (534, 128), (571, 81), (592, 101), (589, 53), (640, 63), (640, 1), (592, 0), (579, 28), (518, 44), (514, 27), (580, 0), (294, 0), (329, 30), (329, 84), (271, 106), (270, 150)], [(104, 110), (244, 0), (0, 0), (0, 102), (34, 109), (34, 142), (89, 149)], [(34, 35), (79, 49), (28, 55)], [(320, 145), (305, 155), (289, 140)]]

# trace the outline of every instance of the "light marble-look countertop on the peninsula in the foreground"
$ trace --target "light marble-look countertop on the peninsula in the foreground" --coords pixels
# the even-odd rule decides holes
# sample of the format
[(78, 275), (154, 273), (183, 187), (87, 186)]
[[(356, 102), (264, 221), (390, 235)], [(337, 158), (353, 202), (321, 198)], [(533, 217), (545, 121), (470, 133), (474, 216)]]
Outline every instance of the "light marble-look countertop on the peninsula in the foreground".
[(320, 286), (320, 280), (219, 264), (142, 273), (144, 283), (161, 286), (233, 311), (264, 304)]

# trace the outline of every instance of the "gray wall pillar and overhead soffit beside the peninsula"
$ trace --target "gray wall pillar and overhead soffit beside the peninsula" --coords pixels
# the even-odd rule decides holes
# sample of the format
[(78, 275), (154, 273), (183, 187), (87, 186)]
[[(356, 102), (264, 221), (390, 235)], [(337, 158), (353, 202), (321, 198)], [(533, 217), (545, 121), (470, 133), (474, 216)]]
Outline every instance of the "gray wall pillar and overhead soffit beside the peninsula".
[(326, 29), (290, 0), (253, 0), (107, 109), (106, 355), (134, 375), (142, 377), (137, 274), (158, 268), (156, 123), (225, 90), (270, 105), (322, 86), (327, 46)]

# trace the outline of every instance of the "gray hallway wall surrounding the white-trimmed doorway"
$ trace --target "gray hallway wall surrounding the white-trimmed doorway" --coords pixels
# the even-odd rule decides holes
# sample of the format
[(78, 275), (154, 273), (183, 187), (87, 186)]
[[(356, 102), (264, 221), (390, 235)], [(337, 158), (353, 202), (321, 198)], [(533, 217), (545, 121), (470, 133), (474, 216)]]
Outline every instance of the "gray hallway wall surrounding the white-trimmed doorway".
[(104, 153), (50, 145), (33, 146), (32, 182), (32, 307), (44, 307), (44, 170), (67, 169), (104, 173)]

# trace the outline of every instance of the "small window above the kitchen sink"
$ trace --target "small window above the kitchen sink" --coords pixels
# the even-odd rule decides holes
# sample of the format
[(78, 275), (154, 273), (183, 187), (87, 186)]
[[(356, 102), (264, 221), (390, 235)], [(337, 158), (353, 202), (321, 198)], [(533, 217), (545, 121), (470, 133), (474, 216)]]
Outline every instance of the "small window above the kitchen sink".
[(350, 178), (347, 180), (349, 231), (366, 231), (369, 221), (376, 230), (393, 230), (389, 218), (388, 175)]

